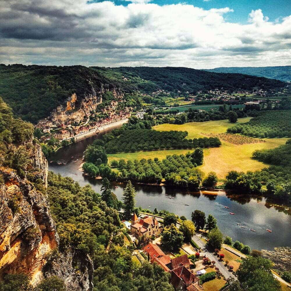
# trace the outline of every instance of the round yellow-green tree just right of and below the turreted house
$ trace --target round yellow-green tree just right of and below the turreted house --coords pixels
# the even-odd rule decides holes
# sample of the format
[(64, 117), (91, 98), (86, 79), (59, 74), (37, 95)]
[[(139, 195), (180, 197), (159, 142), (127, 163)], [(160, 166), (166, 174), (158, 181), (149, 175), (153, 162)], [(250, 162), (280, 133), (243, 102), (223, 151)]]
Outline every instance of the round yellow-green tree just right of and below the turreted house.
[(183, 240), (183, 233), (174, 224), (171, 224), (162, 233), (161, 245), (169, 251), (178, 251), (182, 246)]

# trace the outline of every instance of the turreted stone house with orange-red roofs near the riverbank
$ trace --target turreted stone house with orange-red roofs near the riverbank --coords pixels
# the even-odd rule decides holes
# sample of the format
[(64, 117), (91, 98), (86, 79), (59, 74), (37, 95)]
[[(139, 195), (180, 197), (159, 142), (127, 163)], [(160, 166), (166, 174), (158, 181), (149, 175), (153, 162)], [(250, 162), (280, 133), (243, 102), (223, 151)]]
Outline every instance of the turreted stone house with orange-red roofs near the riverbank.
[(134, 213), (131, 218), (130, 231), (132, 234), (138, 235), (139, 237), (152, 237), (161, 233), (162, 225), (159, 224), (155, 217), (145, 216), (138, 218)]

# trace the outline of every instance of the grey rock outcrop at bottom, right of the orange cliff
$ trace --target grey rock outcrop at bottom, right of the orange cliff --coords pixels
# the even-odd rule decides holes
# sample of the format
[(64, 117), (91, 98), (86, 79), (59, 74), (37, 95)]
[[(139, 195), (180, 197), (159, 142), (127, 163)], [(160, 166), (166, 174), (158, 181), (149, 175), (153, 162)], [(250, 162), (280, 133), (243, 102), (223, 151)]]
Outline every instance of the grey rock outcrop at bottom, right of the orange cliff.
[(58, 253), (43, 268), (45, 277), (56, 275), (65, 282), (68, 291), (92, 290), (93, 262), (74, 250)]

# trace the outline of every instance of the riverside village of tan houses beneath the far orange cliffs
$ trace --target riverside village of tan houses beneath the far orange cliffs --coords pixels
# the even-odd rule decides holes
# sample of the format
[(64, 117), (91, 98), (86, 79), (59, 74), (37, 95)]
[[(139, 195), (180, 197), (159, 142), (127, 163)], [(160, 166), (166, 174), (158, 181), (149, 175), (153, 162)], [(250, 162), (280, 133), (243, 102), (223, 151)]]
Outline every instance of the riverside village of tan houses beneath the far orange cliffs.
[(99, 113), (96, 112), (96, 107), (102, 103), (102, 98), (93, 99), (93, 101), (95, 102), (92, 102), (92, 98), (89, 102), (82, 101), (81, 108), (74, 111), (77, 96), (73, 94), (65, 107), (58, 107), (48, 118), (37, 123), (36, 128), (42, 132), (40, 141), (45, 143), (51, 139), (51, 136), (59, 141), (78, 141), (103, 129), (126, 122), (133, 110), (132, 107), (121, 109), (119, 104), (123, 102), (123, 99), (120, 97), (102, 108), (100, 110), (102, 117), (96, 118), (95, 116)]

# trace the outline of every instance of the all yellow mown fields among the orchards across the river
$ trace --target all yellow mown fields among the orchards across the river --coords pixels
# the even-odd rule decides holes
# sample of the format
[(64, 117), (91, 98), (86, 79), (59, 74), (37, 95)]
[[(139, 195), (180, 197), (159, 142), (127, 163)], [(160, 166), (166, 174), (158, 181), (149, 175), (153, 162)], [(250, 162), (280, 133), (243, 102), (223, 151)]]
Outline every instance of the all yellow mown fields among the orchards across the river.
[[(239, 122), (247, 122), (250, 118), (241, 118)], [(199, 138), (205, 137), (200, 132), (212, 132), (220, 133), (226, 132), (226, 129), (230, 127), (228, 120), (217, 120), (207, 122), (193, 122), (185, 123), (183, 125), (175, 124), (162, 124), (154, 127), (155, 130), (187, 130), (188, 137)], [(281, 139), (265, 139), (265, 143), (253, 143), (244, 145), (234, 145), (222, 141), (222, 145), (219, 148), (206, 148), (204, 152), (204, 163), (199, 168), (209, 173), (214, 171), (217, 173), (219, 179), (225, 179), (226, 174), (231, 170), (236, 171), (256, 171), (268, 166), (262, 162), (252, 159), (252, 153), (257, 149), (270, 149), (276, 148), (279, 145), (285, 144), (287, 138)], [(185, 154), (189, 150), (156, 150), (145, 152), (133, 152), (133, 153), (118, 153), (108, 155), (109, 162), (113, 159), (153, 159), (158, 157), (159, 159), (165, 158), (167, 155), (173, 154)]]

